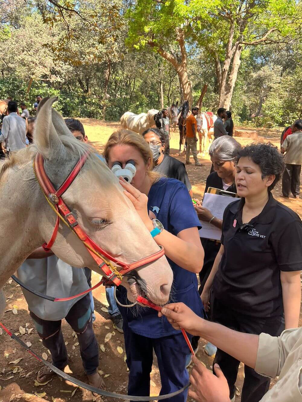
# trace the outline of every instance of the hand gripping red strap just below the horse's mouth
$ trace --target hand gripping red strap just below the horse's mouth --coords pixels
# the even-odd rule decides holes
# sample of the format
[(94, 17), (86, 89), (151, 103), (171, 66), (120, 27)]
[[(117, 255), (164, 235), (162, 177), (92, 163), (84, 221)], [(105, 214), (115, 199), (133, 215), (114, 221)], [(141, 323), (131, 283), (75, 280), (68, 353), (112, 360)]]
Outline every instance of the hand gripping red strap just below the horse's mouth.
[(166, 316), (176, 330), (183, 328), (192, 335), (200, 335), (202, 332), (203, 319), (184, 303), (167, 304), (158, 312), (158, 316)]

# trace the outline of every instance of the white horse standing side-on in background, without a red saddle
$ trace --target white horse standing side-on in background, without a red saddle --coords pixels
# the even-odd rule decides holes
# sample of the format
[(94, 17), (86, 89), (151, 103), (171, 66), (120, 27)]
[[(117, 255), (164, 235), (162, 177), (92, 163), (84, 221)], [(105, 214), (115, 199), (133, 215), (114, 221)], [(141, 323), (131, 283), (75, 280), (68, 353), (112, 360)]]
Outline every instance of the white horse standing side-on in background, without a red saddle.
[(162, 128), (160, 115), (161, 112), (157, 109), (150, 109), (147, 113), (140, 113), (139, 115), (132, 112), (125, 112), (120, 118), (120, 125), (124, 129), (142, 134), (151, 127)]

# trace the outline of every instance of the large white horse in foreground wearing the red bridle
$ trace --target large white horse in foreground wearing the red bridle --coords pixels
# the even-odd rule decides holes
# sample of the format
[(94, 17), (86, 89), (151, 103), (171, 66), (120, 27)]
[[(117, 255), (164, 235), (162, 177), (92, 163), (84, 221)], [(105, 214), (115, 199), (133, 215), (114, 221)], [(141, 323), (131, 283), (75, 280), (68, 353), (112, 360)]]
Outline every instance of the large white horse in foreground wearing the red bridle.
[[(52, 109), (56, 99), (46, 100), (41, 108), (39, 105), (34, 144), (12, 152), (10, 158), (0, 162), (0, 289), (31, 252), (50, 240), (54, 230), (56, 214), (33, 171), (37, 152), (42, 154), (55, 188), (60, 187), (79, 158), (89, 152), (81, 172), (62, 197), (79, 225), (106, 252), (128, 264), (159, 250), (124, 195), (118, 178), (91, 146), (74, 138), (62, 116)], [(102, 274), (81, 240), (61, 223), (52, 251), (73, 267), (86, 266)], [(156, 304), (165, 304), (173, 281), (165, 256), (137, 269), (137, 273), (145, 281), (147, 297)], [(133, 302), (140, 289), (137, 282), (128, 283), (129, 278), (131, 275), (123, 277), (122, 285)], [(0, 290), (0, 318), (4, 307), (4, 293)]]

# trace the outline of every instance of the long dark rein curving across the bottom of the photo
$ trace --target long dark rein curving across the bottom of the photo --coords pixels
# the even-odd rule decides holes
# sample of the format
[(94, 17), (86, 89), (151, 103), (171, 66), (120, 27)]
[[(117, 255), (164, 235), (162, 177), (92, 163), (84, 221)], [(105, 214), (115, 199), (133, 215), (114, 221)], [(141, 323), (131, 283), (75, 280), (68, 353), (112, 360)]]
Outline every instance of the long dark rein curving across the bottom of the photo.
[(159, 396), (135, 396), (135, 395), (125, 395), (125, 394), (116, 394), (115, 392), (109, 392), (109, 391), (104, 391), (100, 390), (99, 388), (95, 388), (89, 384), (86, 384), (83, 381), (80, 381), (79, 379), (76, 379), (74, 377), (71, 377), (70, 375), (64, 373), (64, 371), (58, 369), (52, 363), (49, 363), (48, 361), (44, 360), (42, 357), (37, 355), (31, 348), (29, 348), (20, 338), (18, 338), (16, 335), (11, 334), (11, 332), (3, 325), (1, 326), (6, 330), (6, 332), (9, 334), (9, 336), (16, 340), (23, 348), (25, 348), (31, 355), (33, 355), (37, 360), (41, 361), (44, 365), (49, 367), (54, 373), (62, 377), (66, 381), (70, 381), (73, 384), (85, 388), (85, 390), (94, 392), (95, 394), (99, 394), (101, 396), (107, 396), (108, 398), (118, 398), (122, 400), (132, 400), (132, 401), (155, 401), (155, 400), (163, 400), (163, 399), (168, 399), (172, 398), (173, 396), (176, 396), (178, 394), (181, 394), (186, 390), (189, 386), (190, 383), (186, 384), (186, 386), (182, 387), (180, 390), (171, 392), (171, 394), (165, 394), (165, 395), (159, 395)]

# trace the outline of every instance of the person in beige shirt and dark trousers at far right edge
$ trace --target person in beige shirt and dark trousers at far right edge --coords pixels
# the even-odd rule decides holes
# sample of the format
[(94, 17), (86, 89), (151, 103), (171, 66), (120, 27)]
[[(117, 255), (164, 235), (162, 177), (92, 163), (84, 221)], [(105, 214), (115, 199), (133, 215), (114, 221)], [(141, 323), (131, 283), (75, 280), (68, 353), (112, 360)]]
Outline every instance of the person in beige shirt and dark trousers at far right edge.
[(285, 170), (282, 176), (282, 195), (294, 198), (300, 195), (300, 172), (302, 164), (302, 120), (296, 120), (292, 125), (292, 134), (288, 135), (281, 145), (281, 152), (286, 152)]

